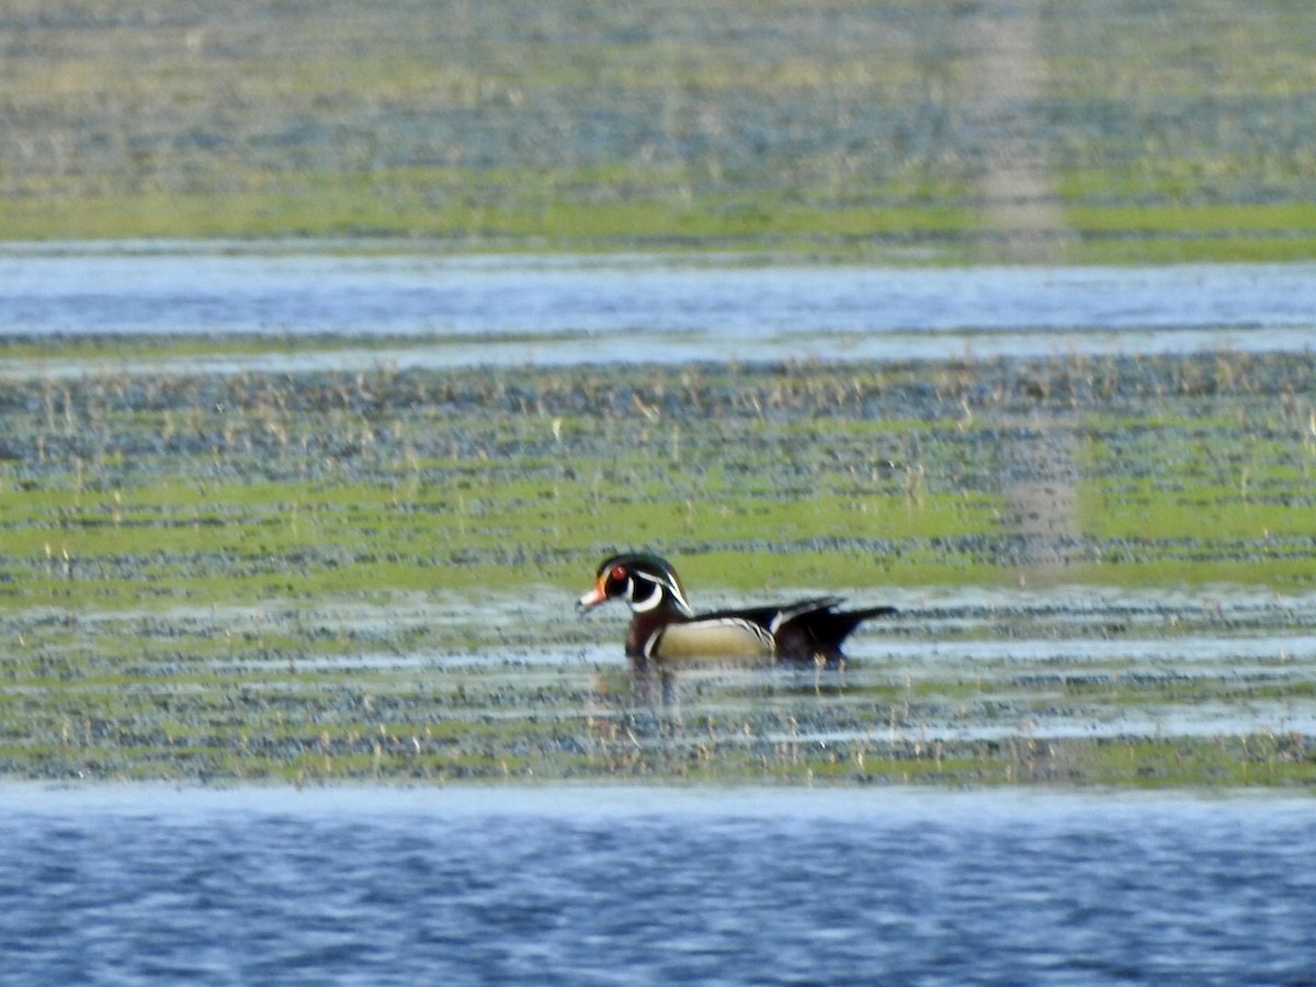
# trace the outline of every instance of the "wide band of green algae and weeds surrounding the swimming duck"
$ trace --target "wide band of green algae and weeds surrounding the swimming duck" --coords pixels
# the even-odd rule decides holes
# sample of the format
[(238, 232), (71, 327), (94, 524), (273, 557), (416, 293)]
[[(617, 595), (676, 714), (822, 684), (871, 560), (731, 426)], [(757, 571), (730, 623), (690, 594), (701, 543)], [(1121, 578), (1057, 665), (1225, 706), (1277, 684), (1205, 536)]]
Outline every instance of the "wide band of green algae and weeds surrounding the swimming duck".
[[(1316, 780), (1309, 353), (47, 376), (63, 345), (0, 383), (7, 776)], [(696, 607), (900, 613), (842, 670), (640, 676), (572, 609), (628, 547)]]

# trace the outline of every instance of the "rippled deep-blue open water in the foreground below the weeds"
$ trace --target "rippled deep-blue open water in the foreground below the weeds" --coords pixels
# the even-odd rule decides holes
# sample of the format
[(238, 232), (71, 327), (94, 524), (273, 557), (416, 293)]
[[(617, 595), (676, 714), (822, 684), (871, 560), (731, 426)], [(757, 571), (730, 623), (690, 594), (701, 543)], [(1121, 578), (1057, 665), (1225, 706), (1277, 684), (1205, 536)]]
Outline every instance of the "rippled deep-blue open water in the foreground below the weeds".
[(1311, 983), (1316, 801), (0, 792), (3, 983)]

